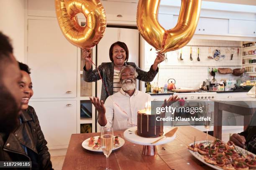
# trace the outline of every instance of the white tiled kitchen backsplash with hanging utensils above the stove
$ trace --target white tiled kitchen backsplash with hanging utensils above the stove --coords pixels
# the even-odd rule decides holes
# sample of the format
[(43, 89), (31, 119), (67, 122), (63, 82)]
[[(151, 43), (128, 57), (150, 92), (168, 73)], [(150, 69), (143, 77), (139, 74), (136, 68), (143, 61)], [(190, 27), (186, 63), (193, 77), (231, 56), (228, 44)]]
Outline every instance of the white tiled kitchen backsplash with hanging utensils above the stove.
[[(190, 56), (190, 45), (192, 46), (192, 58)], [(200, 47), (200, 45), (203, 45)], [(205, 45), (207, 45), (205, 47)], [(214, 47), (221, 46), (221, 47)], [(197, 48), (200, 48), (200, 61), (197, 61)], [(235, 48), (233, 60), (231, 58), (231, 47)], [(239, 47), (239, 54), (238, 52)], [(145, 44), (145, 70), (149, 70), (150, 65), (153, 64), (156, 51), (154, 48), (150, 50), (151, 45)], [(221, 55), (225, 55), (225, 58), (221, 61), (215, 61), (208, 59), (207, 56), (212, 56), (215, 49), (220, 50)], [(182, 48), (182, 58), (184, 60), (178, 60), (180, 57), (181, 49), (177, 51), (167, 52), (168, 62), (161, 62), (159, 67), (159, 86), (164, 86), (168, 79), (173, 78), (176, 80), (176, 87), (191, 87), (199, 88), (200, 84), (204, 80), (212, 79), (208, 69), (210, 68), (241, 68), (241, 42), (240, 41), (224, 41), (224, 40), (191, 40), (188, 45)], [(216, 72), (215, 78), (220, 81), (221, 79), (236, 80), (238, 76), (233, 74), (222, 75)], [(157, 82), (158, 75), (154, 78), (152, 83)]]

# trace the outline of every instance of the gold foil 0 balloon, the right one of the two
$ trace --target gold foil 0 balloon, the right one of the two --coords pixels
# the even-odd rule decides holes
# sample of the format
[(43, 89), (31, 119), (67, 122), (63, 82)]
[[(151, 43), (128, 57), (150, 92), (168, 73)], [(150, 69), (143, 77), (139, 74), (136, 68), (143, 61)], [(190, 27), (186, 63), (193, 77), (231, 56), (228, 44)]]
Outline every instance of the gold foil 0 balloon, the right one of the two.
[(202, 0), (182, 0), (177, 25), (165, 30), (158, 22), (160, 0), (139, 0), (137, 27), (142, 37), (164, 53), (184, 47), (193, 37)]

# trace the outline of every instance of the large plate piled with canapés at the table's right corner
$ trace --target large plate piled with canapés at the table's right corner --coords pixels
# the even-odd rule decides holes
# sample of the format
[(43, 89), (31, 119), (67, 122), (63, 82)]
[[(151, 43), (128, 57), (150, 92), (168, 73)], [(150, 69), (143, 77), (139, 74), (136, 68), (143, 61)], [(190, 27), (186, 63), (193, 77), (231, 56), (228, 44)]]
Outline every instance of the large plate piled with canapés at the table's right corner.
[(256, 168), (256, 155), (232, 141), (194, 141), (187, 146), (198, 160), (216, 170), (249, 170)]

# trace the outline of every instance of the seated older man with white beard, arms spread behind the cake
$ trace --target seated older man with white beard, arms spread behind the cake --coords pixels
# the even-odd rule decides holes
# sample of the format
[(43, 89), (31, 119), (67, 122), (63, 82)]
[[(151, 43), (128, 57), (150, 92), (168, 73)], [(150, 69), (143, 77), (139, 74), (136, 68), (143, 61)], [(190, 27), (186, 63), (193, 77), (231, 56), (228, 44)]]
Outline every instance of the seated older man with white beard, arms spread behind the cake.
[[(145, 103), (151, 101), (148, 93), (136, 89), (136, 70), (126, 65), (120, 70), (120, 83), (122, 88), (119, 92), (109, 96), (103, 101), (97, 97), (90, 97), (92, 104), (98, 111), (97, 124), (100, 127), (113, 127), (113, 130), (123, 130), (137, 125), (137, 111), (144, 109)], [(171, 105), (179, 100), (177, 96), (164, 101), (163, 107)]]

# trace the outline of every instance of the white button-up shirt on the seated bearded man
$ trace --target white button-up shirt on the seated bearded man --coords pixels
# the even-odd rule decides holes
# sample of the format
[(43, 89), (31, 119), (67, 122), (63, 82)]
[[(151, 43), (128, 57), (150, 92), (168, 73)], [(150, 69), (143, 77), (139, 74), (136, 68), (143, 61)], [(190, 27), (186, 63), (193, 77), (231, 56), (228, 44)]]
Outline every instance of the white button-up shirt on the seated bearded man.
[[(137, 125), (137, 112), (144, 109), (146, 102), (151, 101), (148, 93), (139, 90), (130, 96), (121, 88), (119, 92), (109, 96), (105, 101), (107, 124), (113, 130), (123, 130)], [(97, 122), (98, 126), (100, 124)]]

